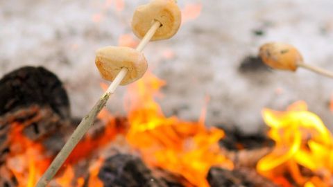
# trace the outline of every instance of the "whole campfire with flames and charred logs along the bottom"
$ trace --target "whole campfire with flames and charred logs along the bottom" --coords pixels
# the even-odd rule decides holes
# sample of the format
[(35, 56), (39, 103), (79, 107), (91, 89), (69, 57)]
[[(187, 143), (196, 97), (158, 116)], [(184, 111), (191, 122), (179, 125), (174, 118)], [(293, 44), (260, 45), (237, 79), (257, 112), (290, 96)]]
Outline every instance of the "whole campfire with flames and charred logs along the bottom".
[[(27, 67), (0, 82), (10, 93), (19, 79), (30, 76), (39, 82), (38, 76), (49, 73)], [(49, 81), (59, 82), (53, 79)], [(28, 83), (19, 84), (26, 89), (14, 94), (28, 98)], [(293, 103), (285, 112), (263, 109), (270, 127), (267, 136), (274, 143), (258, 136), (236, 139), (232, 134), (239, 132), (225, 134), (205, 125), (205, 107), (197, 122), (164, 116), (155, 101), (164, 84), (148, 72), (128, 87), (126, 117), (103, 109), (50, 186), (331, 185), (333, 137), (305, 102)], [(56, 85), (57, 93), (65, 92)], [(34, 89), (36, 93), (40, 90)], [(15, 100), (6, 96), (8, 103)], [(53, 100), (42, 100), (47, 103), (17, 103), (1, 116), (3, 186), (34, 186), (59, 150), (56, 144), (76, 125), (75, 119), (51, 107)], [(68, 104), (67, 96), (60, 103)]]

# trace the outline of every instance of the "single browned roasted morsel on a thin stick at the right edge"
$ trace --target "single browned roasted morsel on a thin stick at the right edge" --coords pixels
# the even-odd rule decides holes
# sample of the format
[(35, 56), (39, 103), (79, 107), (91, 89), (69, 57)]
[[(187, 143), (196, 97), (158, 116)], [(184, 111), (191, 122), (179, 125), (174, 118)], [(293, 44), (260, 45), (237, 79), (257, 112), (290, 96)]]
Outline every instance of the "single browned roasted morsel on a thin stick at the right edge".
[(290, 44), (271, 42), (264, 44), (259, 49), (262, 61), (273, 69), (296, 71), (298, 67), (309, 69), (315, 73), (333, 78), (333, 73), (325, 69), (305, 64), (300, 52)]

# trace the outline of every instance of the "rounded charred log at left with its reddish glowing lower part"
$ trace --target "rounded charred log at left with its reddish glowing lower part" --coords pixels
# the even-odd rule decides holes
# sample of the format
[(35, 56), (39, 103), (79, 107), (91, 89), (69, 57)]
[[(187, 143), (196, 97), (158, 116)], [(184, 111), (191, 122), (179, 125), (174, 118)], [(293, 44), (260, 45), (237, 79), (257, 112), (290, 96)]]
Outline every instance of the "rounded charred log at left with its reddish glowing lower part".
[(42, 67), (26, 66), (0, 80), (0, 165), (10, 149), (10, 132), (22, 129), (40, 141), (69, 122), (69, 100), (60, 80)]

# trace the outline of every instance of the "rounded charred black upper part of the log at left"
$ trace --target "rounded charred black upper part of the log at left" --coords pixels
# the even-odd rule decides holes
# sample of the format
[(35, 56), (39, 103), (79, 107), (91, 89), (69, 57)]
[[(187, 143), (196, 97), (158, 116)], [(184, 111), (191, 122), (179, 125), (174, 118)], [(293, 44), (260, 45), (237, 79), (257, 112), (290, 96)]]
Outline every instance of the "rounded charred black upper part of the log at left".
[(43, 67), (25, 66), (0, 80), (0, 116), (37, 104), (68, 118), (69, 100), (62, 82)]

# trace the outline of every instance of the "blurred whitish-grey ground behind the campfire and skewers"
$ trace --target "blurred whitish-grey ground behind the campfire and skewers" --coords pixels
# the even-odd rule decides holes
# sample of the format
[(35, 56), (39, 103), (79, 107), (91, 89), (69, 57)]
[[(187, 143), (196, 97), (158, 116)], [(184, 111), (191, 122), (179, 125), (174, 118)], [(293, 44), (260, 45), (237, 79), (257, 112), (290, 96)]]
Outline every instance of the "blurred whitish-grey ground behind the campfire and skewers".
[[(103, 93), (94, 54), (103, 46), (132, 46), (135, 8), (148, 0), (0, 0), (0, 77), (20, 66), (44, 66), (64, 82), (71, 113), (83, 116)], [(305, 62), (333, 71), (332, 0), (178, 0), (176, 36), (144, 50), (151, 71), (167, 82), (158, 98), (167, 116), (207, 125), (264, 130), (263, 107), (285, 109), (305, 100), (333, 130), (333, 80), (299, 69), (273, 71), (257, 59), (261, 44), (288, 42)], [(108, 82), (106, 82), (108, 83)], [(117, 89), (108, 103), (126, 114)]]

